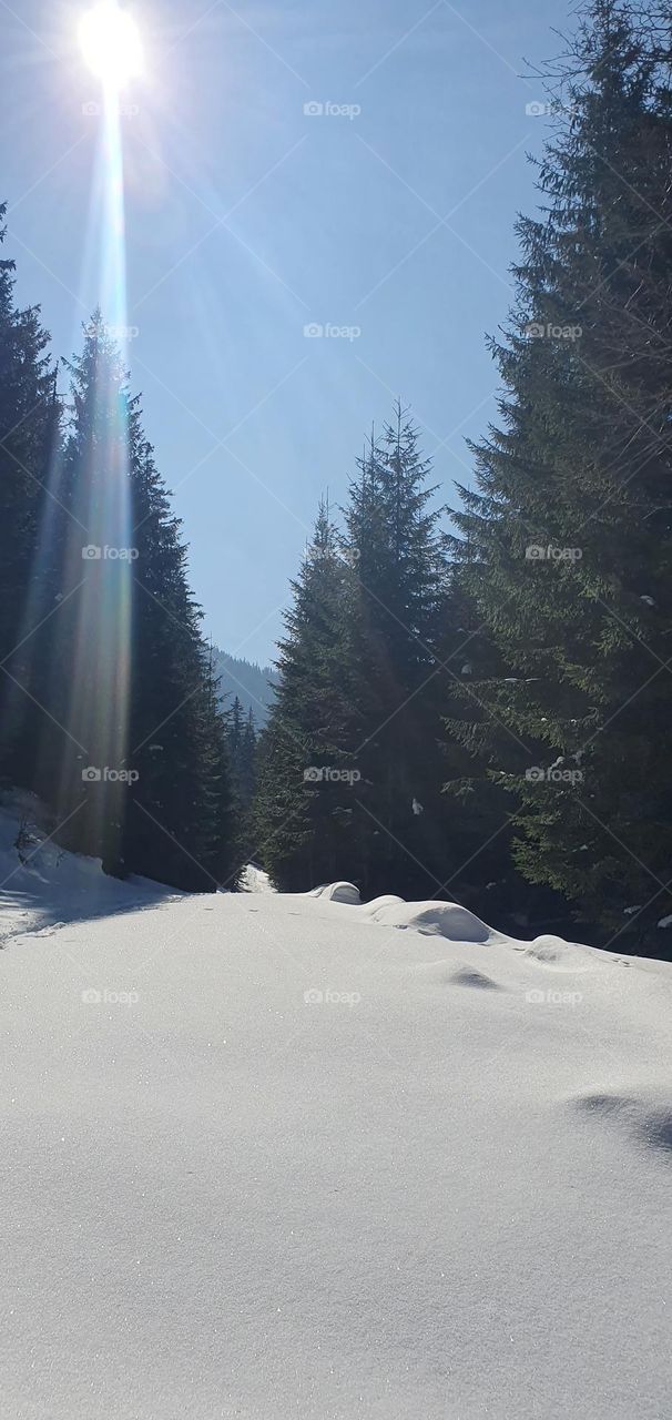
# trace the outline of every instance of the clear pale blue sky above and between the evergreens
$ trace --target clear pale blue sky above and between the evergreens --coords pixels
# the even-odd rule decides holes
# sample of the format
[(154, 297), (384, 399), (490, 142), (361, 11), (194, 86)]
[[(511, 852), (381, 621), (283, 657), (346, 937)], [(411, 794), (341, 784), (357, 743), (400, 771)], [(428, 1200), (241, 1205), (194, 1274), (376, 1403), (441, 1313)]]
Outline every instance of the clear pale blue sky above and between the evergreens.
[[(57, 355), (98, 295), (87, 4), (0, 0), (3, 256)], [(465, 437), (494, 415), (484, 334), (506, 318), (513, 222), (536, 204), (526, 152), (547, 132), (524, 60), (558, 53), (568, 4), (128, 9), (146, 54), (122, 119), (132, 385), (205, 630), (263, 662), (320, 493), (344, 500), (396, 395), (442, 498), (470, 480)]]

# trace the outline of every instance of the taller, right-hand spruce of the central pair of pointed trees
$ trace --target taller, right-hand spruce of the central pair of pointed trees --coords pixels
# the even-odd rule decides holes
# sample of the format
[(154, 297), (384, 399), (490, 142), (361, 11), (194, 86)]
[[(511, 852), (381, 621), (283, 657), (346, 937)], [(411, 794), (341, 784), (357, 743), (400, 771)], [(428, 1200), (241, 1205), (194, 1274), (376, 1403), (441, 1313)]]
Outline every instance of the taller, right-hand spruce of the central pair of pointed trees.
[(429, 463), (395, 406), (345, 510), (347, 660), (361, 775), (351, 876), (367, 896), (430, 896), (448, 876), (438, 655), (446, 564)]

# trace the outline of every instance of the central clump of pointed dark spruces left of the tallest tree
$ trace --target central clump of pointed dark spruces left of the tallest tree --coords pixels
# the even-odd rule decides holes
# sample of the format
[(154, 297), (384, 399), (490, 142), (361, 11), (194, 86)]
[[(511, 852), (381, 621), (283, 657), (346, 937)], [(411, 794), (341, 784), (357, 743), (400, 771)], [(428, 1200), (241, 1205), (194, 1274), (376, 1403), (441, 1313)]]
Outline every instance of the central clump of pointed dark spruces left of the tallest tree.
[(358, 463), (344, 532), (320, 510), (261, 737), (260, 856), (281, 888), (347, 876), (367, 896), (428, 896), (448, 876), (446, 568), (428, 471), (398, 406)]

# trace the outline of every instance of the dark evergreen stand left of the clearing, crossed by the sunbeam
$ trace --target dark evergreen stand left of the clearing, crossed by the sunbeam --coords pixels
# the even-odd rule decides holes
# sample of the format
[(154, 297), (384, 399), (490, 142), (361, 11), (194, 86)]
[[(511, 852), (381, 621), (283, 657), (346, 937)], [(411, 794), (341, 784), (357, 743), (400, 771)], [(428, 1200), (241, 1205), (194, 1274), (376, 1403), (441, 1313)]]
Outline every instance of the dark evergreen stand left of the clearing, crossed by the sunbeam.
[(0, 785), (107, 872), (215, 890), (249, 791), (139, 400), (99, 312), (61, 396), (13, 283), (1, 261)]

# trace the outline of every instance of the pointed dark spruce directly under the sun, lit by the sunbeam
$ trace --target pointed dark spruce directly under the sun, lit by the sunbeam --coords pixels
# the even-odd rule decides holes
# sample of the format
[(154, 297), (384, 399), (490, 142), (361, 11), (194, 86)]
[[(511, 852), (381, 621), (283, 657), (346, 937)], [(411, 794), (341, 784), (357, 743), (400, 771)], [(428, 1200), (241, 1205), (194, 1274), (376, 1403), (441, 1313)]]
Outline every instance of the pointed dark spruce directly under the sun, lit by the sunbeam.
[(179, 523), (99, 312), (70, 371), (48, 798), (108, 872), (213, 890), (232, 869), (226, 724)]

